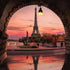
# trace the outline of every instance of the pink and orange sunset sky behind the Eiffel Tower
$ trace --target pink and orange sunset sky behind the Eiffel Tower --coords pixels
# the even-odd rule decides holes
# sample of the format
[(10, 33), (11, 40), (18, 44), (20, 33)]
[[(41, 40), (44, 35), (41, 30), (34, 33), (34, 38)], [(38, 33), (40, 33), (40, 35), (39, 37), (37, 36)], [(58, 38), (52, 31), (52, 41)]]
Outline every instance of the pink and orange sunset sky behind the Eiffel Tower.
[(43, 15), (38, 14), (39, 6), (30, 5), (17, 10), (9, 20), (7, 34), (9, 39), (19, 39), (31, 36), (34, 26), (35, 7), (37, 8), (37, 24), (39, 33), (63, 34), (64, 26), (61, 19), (49, 8), (42, 6)]

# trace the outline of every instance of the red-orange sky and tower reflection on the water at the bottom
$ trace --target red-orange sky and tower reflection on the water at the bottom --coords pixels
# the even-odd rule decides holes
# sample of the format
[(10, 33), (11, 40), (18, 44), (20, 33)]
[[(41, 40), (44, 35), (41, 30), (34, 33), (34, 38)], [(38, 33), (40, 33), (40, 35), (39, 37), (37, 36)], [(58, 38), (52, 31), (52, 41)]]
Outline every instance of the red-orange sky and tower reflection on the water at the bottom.
[(64, 56), (8, 56), (9, 70), (61, 70)]

